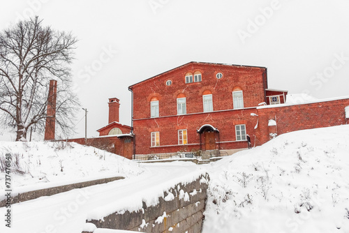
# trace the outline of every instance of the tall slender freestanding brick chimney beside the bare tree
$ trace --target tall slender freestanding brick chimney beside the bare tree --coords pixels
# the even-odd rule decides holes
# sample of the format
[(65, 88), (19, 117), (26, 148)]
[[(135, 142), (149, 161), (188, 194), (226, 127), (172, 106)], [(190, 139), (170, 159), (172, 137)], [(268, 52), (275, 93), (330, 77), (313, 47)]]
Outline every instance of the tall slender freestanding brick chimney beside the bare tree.
[(57, 80), (50, 80), (50, 89), (47, 97), (47, 117), (44, 140), (54, 140), (54, 132), (56, 129), (56, 100)]

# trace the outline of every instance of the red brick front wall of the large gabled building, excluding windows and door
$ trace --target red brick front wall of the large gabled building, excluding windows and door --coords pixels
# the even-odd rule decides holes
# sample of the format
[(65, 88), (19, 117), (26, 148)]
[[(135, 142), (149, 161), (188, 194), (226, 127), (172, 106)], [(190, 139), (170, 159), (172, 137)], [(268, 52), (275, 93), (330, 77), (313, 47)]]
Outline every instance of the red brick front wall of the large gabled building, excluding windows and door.
[[(202, 73), (202, 82), (186, 84), (185, 75), (196, 71)], [(221, 79), (216, 73), (223, 73)], [(166, 81), (171, 80), (170, 86)], [(200, 135), (196, 130), (209, 123), (218, 128), (216, 144), (221, 149), (247, 147), (246, 142), (234, 142), (235, 125), (244, 123), (247, 133), (253, 134), (257, 119), (250, 116), (255, 110), (233, 110), (232, 91), (239, 87), (243, 91), (244, 107), (255, 107), (265, 102), (267, 77), (265, 68), (228, 66), (214, 63), (188, 63), (131, 86), (133, 90), (133, 126), (136, 140), (136, 153), (163, 153), (200, 149)], [(209, 90), (212, 94), (213, 110), (228, 112), (203, 112), (202, 94)], [(184, 93), (186, 113), (177, 116), (177, 96)], [(150, 118), (150, 100), (159, 101), (158, 118)], [(200, 113), (200, 114), (196, 114)], [(188, 130), (188, 145), (178, 146), (177, 130)], [(160, 147), (151, 148), (150, 132), (160, 132)], [(251, 137), (253, 139), (253, 137)], [(166, 146), (166, 147), (164, 147)]]

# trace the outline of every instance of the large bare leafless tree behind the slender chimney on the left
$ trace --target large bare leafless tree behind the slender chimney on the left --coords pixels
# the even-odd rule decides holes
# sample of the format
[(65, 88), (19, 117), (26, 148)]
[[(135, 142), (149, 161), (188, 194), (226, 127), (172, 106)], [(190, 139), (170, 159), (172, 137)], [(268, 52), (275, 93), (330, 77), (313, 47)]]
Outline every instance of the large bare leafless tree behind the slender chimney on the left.
[(27, 138), (30, 126), (43, 130), (49, 80), (57, 80), (57, 126), (72, 130), (78, 107), (71, 91), (69, 64), (77, 42), (71, 33), (43, 27), (38, 17), (0, 33), (1, 123), (17, 128), (16, 141)]

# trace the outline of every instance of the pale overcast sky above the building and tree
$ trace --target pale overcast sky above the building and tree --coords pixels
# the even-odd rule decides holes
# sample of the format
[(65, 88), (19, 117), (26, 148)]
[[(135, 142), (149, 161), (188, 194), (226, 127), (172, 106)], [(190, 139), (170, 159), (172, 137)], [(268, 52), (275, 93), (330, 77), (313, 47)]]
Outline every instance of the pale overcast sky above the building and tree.
[[(265, 66), (269, 88), (348, 96), (348, 10), (348, 0), (1, 0), (0, 29), (38, 15), (79, 39), (74, 89), (97, 136), (108, 98), (130, 125), (128, 87), (189, 61)], [(84, 137), (83, 116), (72, 137)]]

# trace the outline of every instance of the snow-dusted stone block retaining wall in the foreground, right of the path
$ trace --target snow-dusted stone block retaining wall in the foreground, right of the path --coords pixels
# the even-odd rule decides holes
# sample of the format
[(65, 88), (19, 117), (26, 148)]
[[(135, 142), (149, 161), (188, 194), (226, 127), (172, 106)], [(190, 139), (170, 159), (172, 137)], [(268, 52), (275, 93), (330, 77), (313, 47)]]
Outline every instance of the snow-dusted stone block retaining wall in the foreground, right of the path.
[(208, 174), (202, 175), (186, 185), (175, 185), (164, 193), (164, 197), (158, 197), (156, 206), (147, 206), (143, 202), (138, 211), (115, 211), (103, 220), (94, 219), (87, 223), (93, 223), (97, 228), (135, 232), (201, 232), (208, 181)]

